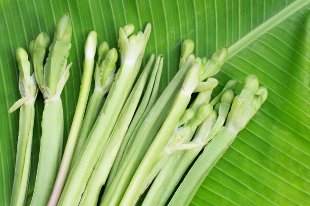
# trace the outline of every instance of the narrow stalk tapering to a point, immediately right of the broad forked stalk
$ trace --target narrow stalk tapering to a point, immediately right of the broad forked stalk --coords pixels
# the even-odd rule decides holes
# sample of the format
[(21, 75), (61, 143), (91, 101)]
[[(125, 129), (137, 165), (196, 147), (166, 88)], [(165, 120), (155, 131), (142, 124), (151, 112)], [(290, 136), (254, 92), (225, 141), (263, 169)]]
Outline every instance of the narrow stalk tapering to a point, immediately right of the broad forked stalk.
[(115, 160), (118, 149), (123, 141), (132, 117), (140, 101), (142, 92), (148, 80), (149, 73), (154, 61), (154, 54), (148, 61), (139, 80), (131, 91), (117, 120), (115, 127), (109, 137), (105, 148), (96, 164), (82, 195), (79, 206), (96, 206), (101, 187), (104, 185), (112, 164)]

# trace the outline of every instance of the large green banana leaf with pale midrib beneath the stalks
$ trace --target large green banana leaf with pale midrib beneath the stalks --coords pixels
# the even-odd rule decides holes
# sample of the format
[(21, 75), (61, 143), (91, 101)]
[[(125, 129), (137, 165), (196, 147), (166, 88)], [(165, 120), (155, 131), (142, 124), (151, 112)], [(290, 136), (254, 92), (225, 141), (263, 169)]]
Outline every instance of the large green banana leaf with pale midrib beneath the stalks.
[[(117, 46), (118, 28), (136, 31), (152, 23), (145, 59), (164, 56), (160, 92), (178, 69), (183, 40), (196, 56), (210, 58), (226, 45), (229, 57), (215, 76), (215, 89), (256, 74), (268, 88), (267, 101), (215, 165), (191, 206), (310, 205), (310, 0), (0, 0), (0, 206), (9, 206), (14, 178), (20, 98), (17, 47), (27, 48), (42, 31), (52, 38), (56, 22), (69, 12), (73, 62), (61, 98), (64, 141), (73, 119), (89, 31)], [(240, 87), (240, 86), (239, 86)], [(36, 102), (32, 167), (38, 164), (42, 94)]]

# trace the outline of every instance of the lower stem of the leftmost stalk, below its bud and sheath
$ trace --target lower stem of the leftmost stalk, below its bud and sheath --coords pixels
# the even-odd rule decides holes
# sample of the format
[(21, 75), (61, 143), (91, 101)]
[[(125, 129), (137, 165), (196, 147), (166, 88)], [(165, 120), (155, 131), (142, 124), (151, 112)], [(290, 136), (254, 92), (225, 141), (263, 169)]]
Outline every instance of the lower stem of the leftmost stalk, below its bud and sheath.
[(30, 174), (34, 117), (34, 102), (24, 102), (19, 112), (16, 165), (10, 206), (25, 205)]

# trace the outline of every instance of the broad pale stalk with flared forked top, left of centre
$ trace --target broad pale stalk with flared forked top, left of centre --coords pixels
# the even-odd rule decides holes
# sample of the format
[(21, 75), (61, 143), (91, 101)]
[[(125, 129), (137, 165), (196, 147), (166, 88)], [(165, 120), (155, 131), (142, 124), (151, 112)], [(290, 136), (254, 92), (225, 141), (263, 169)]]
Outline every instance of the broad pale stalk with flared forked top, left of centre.
[(124, 30), (119, 29), (121, 67), (103, 105), (103, 114), (72, 167), (58, 206), (77, 206), (79, 204), (87, 181), (100, 158), (138, 75), (150, 32), (151, 25), (148, 24), (144, 33), (139, 32), (137, 35), (127, 38)]

